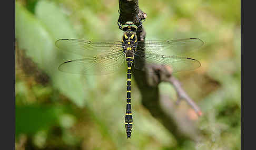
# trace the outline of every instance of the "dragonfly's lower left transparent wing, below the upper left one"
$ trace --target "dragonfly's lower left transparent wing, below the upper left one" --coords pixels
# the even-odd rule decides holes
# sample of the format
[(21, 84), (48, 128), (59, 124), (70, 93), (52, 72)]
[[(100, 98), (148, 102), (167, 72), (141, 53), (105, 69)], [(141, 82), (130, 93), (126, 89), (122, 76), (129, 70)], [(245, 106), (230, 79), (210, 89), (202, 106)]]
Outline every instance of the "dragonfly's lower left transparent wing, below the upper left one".
[(122, 50), (105, 55), (63, 62), (58, 68), (69, 73), (101, 75), (121, 70), (126, 65)]

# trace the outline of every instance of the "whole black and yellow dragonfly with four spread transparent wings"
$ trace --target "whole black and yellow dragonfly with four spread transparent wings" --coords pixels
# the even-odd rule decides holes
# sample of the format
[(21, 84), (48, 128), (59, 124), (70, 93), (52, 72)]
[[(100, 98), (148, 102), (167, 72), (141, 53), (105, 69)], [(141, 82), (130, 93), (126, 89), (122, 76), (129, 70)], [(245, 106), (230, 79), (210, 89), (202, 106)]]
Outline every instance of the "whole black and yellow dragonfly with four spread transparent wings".
[(133, 22), (126, 22), (121, 29), (124, 31), (122, 41), (59, 39), (55, 45), (59, 49), (85, 57), (61, 63), (58, 69), (63, 72), (101, 75), (120, 71), (123, 67), (127, 67), (124, 123), (127, 138), (131, 138), (133, 127), (131, 68), (145, 71), (143, 63), (167, 65), (172, 69), (172, 73), (199, 68), (201, 64), (198, 60), (176, 54), (198, 49), (203, 45), (203, 41), (199, 38), (138, 41), (135, 33), (137, 26)]

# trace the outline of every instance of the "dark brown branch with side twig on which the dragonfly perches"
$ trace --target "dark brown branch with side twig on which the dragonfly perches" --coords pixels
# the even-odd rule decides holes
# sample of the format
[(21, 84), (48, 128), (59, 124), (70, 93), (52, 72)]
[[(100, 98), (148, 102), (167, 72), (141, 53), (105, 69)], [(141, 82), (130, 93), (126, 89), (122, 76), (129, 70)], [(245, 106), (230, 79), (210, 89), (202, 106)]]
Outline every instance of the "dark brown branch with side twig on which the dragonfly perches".
[[(119, 12), (121, 24), (130, 21), (139, 26), (140, 22), (137, 16), (140, 19), (146, 17), (146, 13), (139, 8), (138, 0), (119, 0)], [(143, 26), (141, 28), (142, 31), (136, 33), (138, 41), (144, 41), (146, 36)], [(178, 102), (181, 99), (185, 100), (198, 115), (201, 115), (199, 107), (185, 93), (179, 81), (171, 75), (168, 68), (145, 63), (144, 68), (156, 73), (147, 73), (147, 71), (139, 71), (132, 67), (134, 80), (142, 95), (142, 104), (176, 137), (178, 144), (182, 144), (186, 140), (198, 141), (199, 133), (193, 121), (189, 119), (187, 113), (182, 113), (177, 109), (177, 103), (175, 104), (169, 97), (160, 94), (159, 83), (162, 81), (171, 83), (178, 93)]]

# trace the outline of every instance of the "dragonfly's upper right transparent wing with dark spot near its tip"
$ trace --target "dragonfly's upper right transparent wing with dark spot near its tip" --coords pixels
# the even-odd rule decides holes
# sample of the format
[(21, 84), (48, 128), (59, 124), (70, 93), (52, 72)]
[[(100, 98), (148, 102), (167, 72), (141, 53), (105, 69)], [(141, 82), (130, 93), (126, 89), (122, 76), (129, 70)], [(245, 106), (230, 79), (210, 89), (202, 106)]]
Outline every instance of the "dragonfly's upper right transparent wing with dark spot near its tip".
[(146, 40), (139, 41), (137, 49), (143, 48), (147, 53), (157, 53), (160, 55), (177, 55), (179, 53), (197, 50), (203, 45), (199, 38), (186, 38), (176, 40)]

